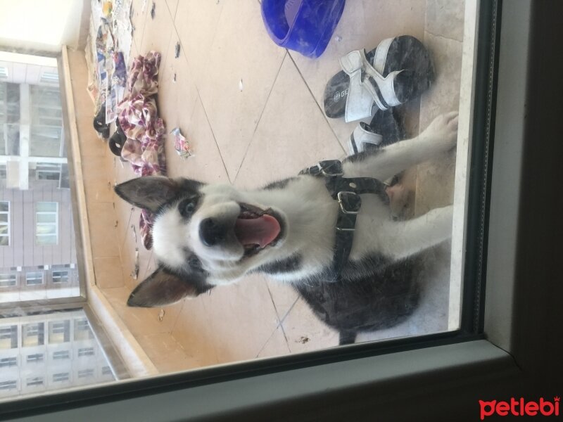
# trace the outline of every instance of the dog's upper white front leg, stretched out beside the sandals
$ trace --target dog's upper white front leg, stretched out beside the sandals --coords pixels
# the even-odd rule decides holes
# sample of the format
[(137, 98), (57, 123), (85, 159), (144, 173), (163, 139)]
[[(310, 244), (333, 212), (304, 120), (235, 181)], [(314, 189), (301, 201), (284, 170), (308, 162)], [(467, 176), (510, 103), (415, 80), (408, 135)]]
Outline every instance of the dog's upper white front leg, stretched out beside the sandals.
[(395, 174), (445, 153), (457, 140), (457, 112), (439, 115), (414, 139), (393, 143), (371, 155), (344, 162), (346, 177), (375, 177), (386, 180)]

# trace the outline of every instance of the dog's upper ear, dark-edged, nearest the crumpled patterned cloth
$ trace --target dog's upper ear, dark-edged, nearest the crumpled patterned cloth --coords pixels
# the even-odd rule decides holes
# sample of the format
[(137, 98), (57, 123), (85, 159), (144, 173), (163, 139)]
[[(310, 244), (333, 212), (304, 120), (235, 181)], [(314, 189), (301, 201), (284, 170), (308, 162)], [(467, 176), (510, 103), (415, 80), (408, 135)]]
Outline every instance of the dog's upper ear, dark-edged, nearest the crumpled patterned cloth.
[(180, 190), (177, 181), (163, 176), (146, 176), (115, 186), (115, 193), (128, 203), (151, 212), (174, 199)]

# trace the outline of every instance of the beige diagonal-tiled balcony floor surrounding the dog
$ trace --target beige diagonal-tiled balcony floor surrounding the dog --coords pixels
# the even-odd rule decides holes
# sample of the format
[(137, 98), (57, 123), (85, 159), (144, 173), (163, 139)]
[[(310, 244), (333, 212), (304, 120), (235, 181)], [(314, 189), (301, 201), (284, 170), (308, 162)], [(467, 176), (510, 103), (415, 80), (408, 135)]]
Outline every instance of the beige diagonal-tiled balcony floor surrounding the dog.
[[(344, 53), (372, 49), (381, 39), (399, 34), (422, 39), (437, 70), (436, 83), (422, 100), (405, 106), (410, 133), (426, 127), (438, 113), (457, 109), (463, 0), (348, 0), (335, 37), (317, 60), (272, 43), (262, 24), (258, 1), (156, 0), (154, 19), (148, 13), (151, 1), (144, 11), (142, 3), (133, 1), (131, 57), (149, 49), (162, 53), (160, 116), (169, 131), (179, 127), (195, 151), (193, 157), (183, 160), (175, 153), (172, 139), (167, 139), (171, 177), (259, 186), (296, 174), (320, 159), (342, 158), (357, 122), (346, 124), (324, 116), (324, 84), (339, 70), (338, 58)], [(175, 58), (177, 43), (181, 50)], [(127, 163), (110, 160), (113, 182), (134, 177)], [(450, 200), (453, 183), (443, 186), (441, 180), (453, 180), (453, 159), (440, 161), (419, 167), (417, 213)], [(155, 263), (134, 234), (139, 210), (116, 197), (113, 202), (118, 215), (118, 245), (94, 244), (94, 248), (120, 249), (126, 281), (124, 286), (105, 286), (111, 289), (106, 291), (111, 291), (113, 306), (131, 326), (136, 326), (136, 320), (160, 321), (142, 324), (141, 330), (134, 329), (134, 335), (149, 355), (156, 344), (170, 352), (172, 360), (160, 365), (161, 370), (337, 345), (338, 335), (315, 319), (292, 288), (262, 276), (215, 288), (210, 295), (185, 300), (164, 312), (126, 308), (129, 291), (150, 274)], [(140, 262), (137, 280), (129, 276), (136, 248)], [(447, 245), (429, 251), (428, 258), (433, 264), (421, 269), (425, 284), (418, 311), (400, 326), (365, 333), (358, 340), (445, 329)], [(162, 347), (159, 350), (162, 353)]]

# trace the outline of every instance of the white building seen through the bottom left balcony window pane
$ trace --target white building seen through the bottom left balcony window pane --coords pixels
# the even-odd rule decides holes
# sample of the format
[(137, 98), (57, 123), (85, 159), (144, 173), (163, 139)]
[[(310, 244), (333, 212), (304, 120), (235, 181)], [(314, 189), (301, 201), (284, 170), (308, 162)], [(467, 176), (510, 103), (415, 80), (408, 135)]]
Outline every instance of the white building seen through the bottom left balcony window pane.
[(0, 319), (0, 401), (115, 380), (90, 331), (82, 310)]

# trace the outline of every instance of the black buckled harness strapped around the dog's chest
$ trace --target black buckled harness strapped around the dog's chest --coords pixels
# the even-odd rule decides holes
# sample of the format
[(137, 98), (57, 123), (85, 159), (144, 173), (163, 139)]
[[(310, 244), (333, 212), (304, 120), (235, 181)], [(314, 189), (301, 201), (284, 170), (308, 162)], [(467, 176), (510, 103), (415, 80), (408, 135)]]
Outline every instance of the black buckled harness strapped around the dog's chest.
[(342, 269), (352, 250), (356, 217), (362, 206), (362, 193), (374, 193), (388, 204), (385, 193), (386, 184), (373, 177), (343, 177), (340, 160), (320, 161), (317, 165), (302, 170), (299, 174), (311, 174), (324, 177), (331, 197), (339, 201), (339, 215), (336, 219), (336, 241), (334, 245), (333, 274), (334, 281), (341, 279)]

